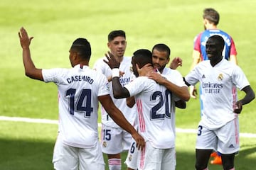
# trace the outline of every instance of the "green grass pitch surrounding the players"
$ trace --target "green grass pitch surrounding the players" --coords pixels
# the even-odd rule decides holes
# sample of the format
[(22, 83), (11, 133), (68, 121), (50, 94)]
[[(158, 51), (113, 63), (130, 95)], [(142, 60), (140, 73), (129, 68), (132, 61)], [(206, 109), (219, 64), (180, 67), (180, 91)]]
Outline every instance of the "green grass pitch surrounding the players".
[[(127, 32), (127, 56), (139, 48), (151, 50), (156, 43), (163, 42), (171, 47), (171, 58), (182, 57), (183, 67), (178, 70), (186, 75), (192, 61), (193, 38), (203, 29), (202, 12), (206, 7), (220, 12), (218, 27), (233, 36), (238, 64), (255, 89), (255, 6), (256, 1), (246, 0), (3, 0), (0, 2), (0, 114), (58, 119), (56, 86), (24, 76), (18, 42), (21, 26), (28, 30), (28, 35), (35, 37), (31, 55), (39, 68), (70, 67), (68, 50), (73, 40), (79, 37), (87, 38), (92, 45), (92, 67), (108, 50), (107, 34), (123, 29)], [(239, 93), (239, 98), (242, 96)], [(240, 132), (255, 133), (255, 106), (252, 101), (243, 107)], [(177, 109), (176, 113), (178, 128), (196, 128), (200, 119), (199, 101), (191, 98), (186, 110)], [(1, 154), (0, 169), (52, 169), (55, 125), (21, 124), (0, 122), (0, 150), (4, 153)], [(195, 139), (195, 135), (177, 135), (177, 169), (193, 169), (194, 142), (191, 141)], [(256, 151), (255, 140), (241, 140), (245, 140), (245, 145), (241, 142), (242, 151), (236, 166), (246, 169), (253, 165), (250, 160), (256, 159), (252, 154)], [(210, 168), (221, 169), (220, 166)]]

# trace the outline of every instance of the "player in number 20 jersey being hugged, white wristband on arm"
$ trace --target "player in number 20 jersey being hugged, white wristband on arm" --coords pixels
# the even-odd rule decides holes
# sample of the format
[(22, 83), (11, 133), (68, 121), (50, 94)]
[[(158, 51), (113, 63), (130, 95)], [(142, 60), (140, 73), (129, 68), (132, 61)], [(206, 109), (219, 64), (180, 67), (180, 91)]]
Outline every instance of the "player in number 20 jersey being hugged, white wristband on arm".
[[(109, 55), (107, 63), (114, 68), (112, 69), (114, 97), (134, 96), (136, 99), (137, 114), (139, 114), (138, 129), (146, 140), (145, 149), (139, 152), (138, 169), (175, 169), (175, 133), (171, 120), (171, 108), (174, 108), (175, 96), (166, 87), (137, 72), (138, 68), (148, 63), (153, 69), (151, 52), (149, 50), (134, 52), (132, 69), (137, 79), (124, 87), (118, 81), (119, 63), (114, 60), (111, 53)], [(184, 84), (183, 81), (182, 84)]]

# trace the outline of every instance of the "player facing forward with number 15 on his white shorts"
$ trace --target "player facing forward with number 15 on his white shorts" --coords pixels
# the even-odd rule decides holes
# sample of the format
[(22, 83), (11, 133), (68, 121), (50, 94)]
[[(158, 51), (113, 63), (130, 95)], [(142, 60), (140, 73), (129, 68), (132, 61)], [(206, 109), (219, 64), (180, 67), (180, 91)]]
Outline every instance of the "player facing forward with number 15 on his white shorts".
[[(129, 81), (134, 79), (134, 74), (131, 72), (131, 60), (132, 57), (124, 57), (124, 52), (127, 47), (126, 34), (124, 30), (113, 30), (108, 35), (107, 47), (109, 47), (110, 52), (114, 55), (116, 60), (120, 62), (120, 74), (119, 81), (124, 86), (128, 84)], [(104, 62), (105, 58), (97, 60), (94, 64), (93, 69), (97, 72), (105, 74), (107, 79), (110, 81), (110, 96), (114, 101), (114, 105), (119, 108), (124, 114), (125, 118), (134, 124), (135, 120), (135, 107), (128, 107), (126, 98), (116, 99), (113, 97), (112, 93), (112, 70)], [(119, 125), (114, 123), (112, 118), (110, 118), (105, 108), (101, 108), (102, 113), (102, 152), (107, 154), (108, 164), (110, 170), (121, 170), (121, 152), (128, 150), (132, 142), (132, 136), (124, 129), (120, 128)]]

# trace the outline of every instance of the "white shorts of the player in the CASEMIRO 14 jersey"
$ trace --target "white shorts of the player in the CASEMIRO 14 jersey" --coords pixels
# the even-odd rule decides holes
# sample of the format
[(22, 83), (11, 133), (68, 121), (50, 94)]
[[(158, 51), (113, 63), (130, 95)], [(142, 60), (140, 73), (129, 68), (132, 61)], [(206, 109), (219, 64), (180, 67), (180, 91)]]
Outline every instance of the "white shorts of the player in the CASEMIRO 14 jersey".
[(104, 170), (100, 142), (92, 148), (78, 148), (65, 145), (58, 137), (53, 152), (53, 166), (56, 170)]

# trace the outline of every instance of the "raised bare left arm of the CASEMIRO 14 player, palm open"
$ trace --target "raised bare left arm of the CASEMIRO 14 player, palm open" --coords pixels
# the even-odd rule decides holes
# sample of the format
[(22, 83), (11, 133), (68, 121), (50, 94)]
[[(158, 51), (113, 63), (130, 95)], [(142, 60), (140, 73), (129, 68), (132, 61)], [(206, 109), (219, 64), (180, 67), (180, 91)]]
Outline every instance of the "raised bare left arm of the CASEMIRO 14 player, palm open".
[(21, 47), (23, 50), (22, 56), (26, 76), (30, 77), (31, 79), (38, 79), (43, 81), (42, 69), (37, 69), (31, 59), (29, 45), (31, 44), (33, 37), (28, 38), (28, 33), (23, 27), (18, 32), (18, 37), (20, 39)]

